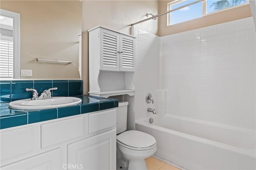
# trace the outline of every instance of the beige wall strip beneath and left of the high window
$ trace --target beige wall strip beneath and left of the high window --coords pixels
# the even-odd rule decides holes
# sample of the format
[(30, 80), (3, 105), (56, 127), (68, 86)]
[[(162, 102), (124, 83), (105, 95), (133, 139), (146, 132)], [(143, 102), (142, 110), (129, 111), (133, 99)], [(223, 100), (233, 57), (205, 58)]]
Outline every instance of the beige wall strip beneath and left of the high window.
[[(159, 1), (159, 12), (167, 11), (167, 4), (171, 0), (160, 0)], [(238, 20), (242, 18), (247, 18), (252, 16), (250, 5), (240, 6), (238, 8), (233, 8), (230, 10), (225, 10), (222, 12), (217, 12), (215, 14), (210, 14), (201, 18), (196, 18), (194, 20), (182, 22), (179, 24), (167, 26), (167, 15), (159, 17), (159, 36), (167, 36), (170, 34), (176, 34), (179, 32), (185, 32), (188, 30), (194, 30), (197, 28), (202, 28), (206, 26), (211, 26), (215, 24), (220, 24), (224, 22), (229, 22), (233, 20)]]

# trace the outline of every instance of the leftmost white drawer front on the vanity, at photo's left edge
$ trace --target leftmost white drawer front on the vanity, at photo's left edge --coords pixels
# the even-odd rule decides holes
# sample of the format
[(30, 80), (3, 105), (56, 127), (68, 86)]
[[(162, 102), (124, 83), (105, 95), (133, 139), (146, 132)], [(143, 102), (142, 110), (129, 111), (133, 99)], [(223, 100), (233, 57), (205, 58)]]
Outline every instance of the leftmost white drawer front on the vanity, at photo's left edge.
[(32, 127), (19, 128), (1, 132), (0, 152), (1, 160), (12, 158), (32, 151), (33, 131)]

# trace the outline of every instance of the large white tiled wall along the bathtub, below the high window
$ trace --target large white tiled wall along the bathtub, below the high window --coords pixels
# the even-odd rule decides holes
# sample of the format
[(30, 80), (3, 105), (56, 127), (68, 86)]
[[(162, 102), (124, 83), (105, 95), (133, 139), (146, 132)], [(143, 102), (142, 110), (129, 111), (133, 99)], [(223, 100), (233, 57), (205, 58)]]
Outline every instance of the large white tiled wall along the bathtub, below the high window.
[(255, 42), (252, 17), (162, 37), (167, 113), (255, 129)]

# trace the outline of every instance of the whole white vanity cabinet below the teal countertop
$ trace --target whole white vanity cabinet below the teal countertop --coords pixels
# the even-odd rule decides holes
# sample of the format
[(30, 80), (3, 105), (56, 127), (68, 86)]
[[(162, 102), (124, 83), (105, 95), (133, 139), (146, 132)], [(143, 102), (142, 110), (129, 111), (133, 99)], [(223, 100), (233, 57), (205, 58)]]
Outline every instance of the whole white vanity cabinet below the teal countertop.
[(116, 109), (0, 131), (1, 170), (116, 169)]

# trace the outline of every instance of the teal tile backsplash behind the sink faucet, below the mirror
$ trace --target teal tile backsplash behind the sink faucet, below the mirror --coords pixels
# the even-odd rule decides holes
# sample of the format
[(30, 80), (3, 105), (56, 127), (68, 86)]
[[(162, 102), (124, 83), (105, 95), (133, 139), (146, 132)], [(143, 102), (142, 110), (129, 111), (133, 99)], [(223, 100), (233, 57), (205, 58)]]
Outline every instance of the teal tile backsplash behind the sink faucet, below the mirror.
[(26, 91), (26, 88), (36, 89), (38, 95), (44, 90), (58, 87), (58, 90), (52, 91), (52, 96), (81, 96), (83, 95), (82, 80), (16, 80), (0, 81), (0, 103), (7, 103), (20, 99), (29, 99), (32, 97), (32, 91)]

